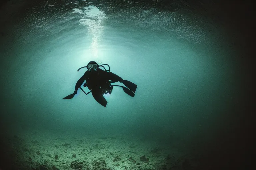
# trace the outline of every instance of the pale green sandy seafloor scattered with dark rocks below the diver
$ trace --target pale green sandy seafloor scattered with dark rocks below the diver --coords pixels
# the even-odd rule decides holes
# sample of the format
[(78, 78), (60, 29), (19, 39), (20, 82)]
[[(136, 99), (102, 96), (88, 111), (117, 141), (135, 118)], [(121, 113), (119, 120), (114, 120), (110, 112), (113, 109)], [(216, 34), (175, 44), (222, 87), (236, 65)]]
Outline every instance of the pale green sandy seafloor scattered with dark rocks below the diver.
[(181, 142), (163, 144), (120, 134), (24, 131), (5, 139), (8, 150), (4, 154), (14, 162), (9, 167), (20, 170), (193, 169), (191, 159), (179, 148)]

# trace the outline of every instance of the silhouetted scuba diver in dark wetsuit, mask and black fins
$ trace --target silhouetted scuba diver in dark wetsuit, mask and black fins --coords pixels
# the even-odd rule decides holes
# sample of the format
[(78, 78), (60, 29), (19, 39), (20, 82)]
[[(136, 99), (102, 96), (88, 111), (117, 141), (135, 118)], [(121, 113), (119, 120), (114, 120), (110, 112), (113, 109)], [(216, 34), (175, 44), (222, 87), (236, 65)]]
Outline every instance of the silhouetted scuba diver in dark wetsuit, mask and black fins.
[[(108, 66), (108, 70), (103, 65)], [(63, 99), (72, 99), (75, 94), (77, 94), (77, 90), (80, 88), (84, 94), (88, 95), (89, 93), (92, 93), (93, 98), (102, 106), (106, 107), (107, 101), (103, 97), (103, 94), (111, 94), (113, 87), (118, 86), (122, 87), (124, 92), (128, 94), (131, 97), (134, 97), (134, 93), (137, 89), (137, 85), (128, 81), (124, 80), (118, 75), (110, 72), (110, 66), (108, 64), (102, 64), (98, 65), (95, 61), (90, 61), (87, 66), (81, 67), (81, 68), (87, 68), (88, 70), (84, 73), (84, 75), (76, 82), (75, 86), (75, 91), (74, 93), (64, 97)], [(99, 67), (103, 67), (105, 70), (100, 69)], [(79, 71), (81, 68), (79, 68), (77, 71)], [(84, 87), (88, 87), (90, 92), (86, 93), (82, 88), (83, 82), (86, 80), (84, 83)], [(119, 86), (119, 85), (112, 85), (111, 83), (115, 82), (120, 82), (123, 83), (126, 87), (124, 86)]]

